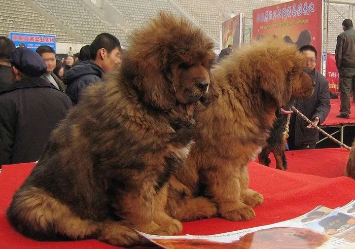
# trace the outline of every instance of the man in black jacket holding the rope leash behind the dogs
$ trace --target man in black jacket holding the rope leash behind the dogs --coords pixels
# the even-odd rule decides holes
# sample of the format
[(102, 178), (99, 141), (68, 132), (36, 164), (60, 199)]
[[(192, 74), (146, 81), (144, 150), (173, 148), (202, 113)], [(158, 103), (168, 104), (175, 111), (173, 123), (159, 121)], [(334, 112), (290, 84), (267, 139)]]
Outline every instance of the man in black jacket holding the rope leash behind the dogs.
[[(330, 95), (327, 79), (315, 70), (317, 51), (312, 45), (304, 45), (300, 52), (305, 55), (306, 68), (310, 71), (310, 77), (315, 82), (314, 93), (309, 99), (299, 99), (294, 103), (301, 113), (313, 124), (320, 125), (327, 118), (330, 111)], [(312, 128), (300, 116), (292, 114), (288, 145), (290, 150), (314, 149), (318, 141), (318, 131)]]

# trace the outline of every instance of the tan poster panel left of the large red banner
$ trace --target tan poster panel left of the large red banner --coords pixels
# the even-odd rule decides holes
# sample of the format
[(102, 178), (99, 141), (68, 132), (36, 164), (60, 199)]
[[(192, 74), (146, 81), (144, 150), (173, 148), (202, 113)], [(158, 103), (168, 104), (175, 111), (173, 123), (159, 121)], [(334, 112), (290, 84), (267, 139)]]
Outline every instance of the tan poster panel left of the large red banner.
[(228, 45), (237, 48), (241, 45), (243, 13), (222, 23), (222, 49)]

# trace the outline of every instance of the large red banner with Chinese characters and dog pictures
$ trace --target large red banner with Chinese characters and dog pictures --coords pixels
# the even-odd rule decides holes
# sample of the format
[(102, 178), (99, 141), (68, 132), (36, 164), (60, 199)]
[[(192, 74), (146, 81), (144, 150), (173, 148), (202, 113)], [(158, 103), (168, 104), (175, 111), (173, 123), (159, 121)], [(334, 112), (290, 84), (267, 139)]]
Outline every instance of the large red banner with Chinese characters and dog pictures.
[(311, 44), (322, 63), (322, 0), (296, 0), (253, 10), (253, 38), (275, 35), (298, 48)]

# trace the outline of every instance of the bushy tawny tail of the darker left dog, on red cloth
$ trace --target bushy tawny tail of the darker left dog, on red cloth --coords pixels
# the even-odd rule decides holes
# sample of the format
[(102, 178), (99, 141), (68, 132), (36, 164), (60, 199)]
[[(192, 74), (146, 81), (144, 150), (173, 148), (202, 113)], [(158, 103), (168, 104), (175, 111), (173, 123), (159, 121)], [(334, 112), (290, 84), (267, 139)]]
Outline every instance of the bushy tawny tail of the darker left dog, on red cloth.
[(45, 191), (23, 186), (14, 195), (7, 217), (16, 230), (37, 240), (81, 239), (99, 231), (99, 224), (81, 219)]

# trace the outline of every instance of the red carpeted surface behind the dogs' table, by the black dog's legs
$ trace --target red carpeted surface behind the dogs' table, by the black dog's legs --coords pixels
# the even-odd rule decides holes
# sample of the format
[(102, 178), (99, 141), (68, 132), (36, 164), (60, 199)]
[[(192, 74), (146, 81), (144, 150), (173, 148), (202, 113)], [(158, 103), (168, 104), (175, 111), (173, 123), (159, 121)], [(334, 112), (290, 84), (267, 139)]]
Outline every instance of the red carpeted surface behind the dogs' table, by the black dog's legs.
[[(343, 148), (287, 151), (287, 171), (329, 178), (343, 176), (348, 156), (349, 151)], [(269, 157), (270, 167), (275, 168), (274, 156)]]

